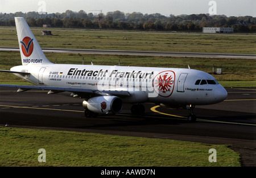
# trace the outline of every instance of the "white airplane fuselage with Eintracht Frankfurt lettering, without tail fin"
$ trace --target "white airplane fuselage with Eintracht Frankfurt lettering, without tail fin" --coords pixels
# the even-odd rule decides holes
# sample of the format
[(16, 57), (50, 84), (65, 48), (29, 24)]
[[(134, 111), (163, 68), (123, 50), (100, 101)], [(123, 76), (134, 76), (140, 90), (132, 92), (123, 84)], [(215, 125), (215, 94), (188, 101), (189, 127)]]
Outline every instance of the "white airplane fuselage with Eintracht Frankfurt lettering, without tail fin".
[(226, 98), (225, 89), (210, 74), (194, 69), (101, 65), (20, 65), (11, 71), (40, 86), (128, 91), (123, 102), (167, 105), (208, 105)]

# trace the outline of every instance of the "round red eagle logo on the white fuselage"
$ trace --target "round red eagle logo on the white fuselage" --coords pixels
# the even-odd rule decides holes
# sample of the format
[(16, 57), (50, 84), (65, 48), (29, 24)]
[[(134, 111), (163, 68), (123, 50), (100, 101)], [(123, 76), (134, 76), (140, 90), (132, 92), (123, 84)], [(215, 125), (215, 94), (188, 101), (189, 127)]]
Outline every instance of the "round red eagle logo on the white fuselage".
[(153, 82), (153, 88), (159, 96), (170, 97), (174, 92), (175, 73), (173, 71), (163, 71), (158, 73)]

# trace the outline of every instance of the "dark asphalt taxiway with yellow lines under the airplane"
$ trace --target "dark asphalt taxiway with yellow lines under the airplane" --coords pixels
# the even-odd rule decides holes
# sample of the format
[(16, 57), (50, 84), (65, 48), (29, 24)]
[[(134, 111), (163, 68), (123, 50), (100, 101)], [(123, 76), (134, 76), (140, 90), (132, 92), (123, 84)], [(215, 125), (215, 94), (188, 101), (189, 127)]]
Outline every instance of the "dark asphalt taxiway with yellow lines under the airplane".
[(187, 121), (188, 111), (144, 104), (143, 116), (121, 114), (86, 118), (82, 99), (29, 90), (0, 88), (0, 126), (55, 129), (229, 144), (241, 154), (243, 166), (256, 166), (256, 88), (228, 88), (220, 104), (196, 106), (197, 122)]

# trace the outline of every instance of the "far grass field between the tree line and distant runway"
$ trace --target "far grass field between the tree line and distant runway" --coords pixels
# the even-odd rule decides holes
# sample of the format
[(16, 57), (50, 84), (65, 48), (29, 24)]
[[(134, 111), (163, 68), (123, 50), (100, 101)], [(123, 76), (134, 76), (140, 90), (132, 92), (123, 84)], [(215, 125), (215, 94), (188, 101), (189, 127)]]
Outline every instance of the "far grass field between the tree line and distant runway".
[[(44, 29), (46, 30), (46, 29)], [(123, 49), (141, 51), (256, 53), (256, 35), (205, 35), (143, 32), (54, 31), (52, 36), (32, 30), (43, 48)], [(127, 40), (124, 40), (126, 37)], [(0, 28), (0, 46), (17, 47), (16, 29)]]

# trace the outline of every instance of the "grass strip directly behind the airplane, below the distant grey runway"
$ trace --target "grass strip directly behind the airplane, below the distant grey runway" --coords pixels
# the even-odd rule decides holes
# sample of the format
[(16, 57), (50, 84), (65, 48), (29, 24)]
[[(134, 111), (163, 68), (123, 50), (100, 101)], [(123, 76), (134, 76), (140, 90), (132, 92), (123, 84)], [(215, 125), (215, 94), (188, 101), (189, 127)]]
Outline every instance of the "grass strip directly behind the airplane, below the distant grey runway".
[[(15, 65), (21, 65), (19, 52), (0, 52), (0, 69), (10, 70)], [(214, 59), (196, 57), (159, 57), (159, 56), (123, 56), (123, 55), (82, 55), (73, 53), (46, 53), (47, 58), (58, 64), (85, 64), (90, 65), (118, 65), (118, 60), (123, 66), (139, 67), (170, 67), (199, 69), (211, 73), (214, 68), (222, 68), (223, 74), (213, 76), (226, 87), (255, 87), (256, 86), (256, 59)], [(10, 73), (1, 73), (0, 82), (22, 81)]]

